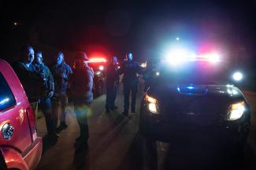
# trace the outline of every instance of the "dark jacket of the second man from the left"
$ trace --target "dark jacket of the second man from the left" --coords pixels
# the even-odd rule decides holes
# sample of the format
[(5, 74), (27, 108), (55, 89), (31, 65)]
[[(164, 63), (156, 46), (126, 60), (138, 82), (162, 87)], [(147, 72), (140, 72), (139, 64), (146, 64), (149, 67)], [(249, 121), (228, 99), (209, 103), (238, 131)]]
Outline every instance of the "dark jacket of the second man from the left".
[(50, 73), (50, 70), (44, 63), (34, 64), (35, 71), (40, 74), (44, 83), (45, 95), (48, 96), (50, 92), (54, 91), (54, 78)]

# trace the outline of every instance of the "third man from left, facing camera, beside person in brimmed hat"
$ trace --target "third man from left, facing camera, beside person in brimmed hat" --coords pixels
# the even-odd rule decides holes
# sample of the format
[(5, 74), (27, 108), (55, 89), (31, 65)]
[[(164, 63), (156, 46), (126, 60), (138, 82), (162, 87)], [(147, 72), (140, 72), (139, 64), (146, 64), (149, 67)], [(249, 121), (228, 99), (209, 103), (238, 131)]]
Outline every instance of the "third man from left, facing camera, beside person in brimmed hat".
[[(60, 130), (68, 127), (66, 124), (66, 107), (68, 105), (68, 81), (69, 74), (72, 74), (72, 69), (64, 61), (64, 54), (58, 52), (56, 63), (51, 67), (51, 73), (54, 77), (54, 96), (52, 98), (52, 108), (54, 115), (58, 115), (58, 106), (61, 105), (60, 121), (61, 124), (58, 127)], [(54, 122), (58, 124), (58, 120)]]

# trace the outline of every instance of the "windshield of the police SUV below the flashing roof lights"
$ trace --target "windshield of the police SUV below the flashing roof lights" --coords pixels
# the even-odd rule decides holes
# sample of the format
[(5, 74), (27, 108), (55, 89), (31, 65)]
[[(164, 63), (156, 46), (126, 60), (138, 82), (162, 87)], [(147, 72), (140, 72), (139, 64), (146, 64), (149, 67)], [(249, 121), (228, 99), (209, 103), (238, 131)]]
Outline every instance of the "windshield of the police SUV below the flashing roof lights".
[(186, 67), (162, 67), (159, 76), (161, 82), (197, 85), (227, 85), (229, 71), (227, 67), (216, 67), (198, 63)]

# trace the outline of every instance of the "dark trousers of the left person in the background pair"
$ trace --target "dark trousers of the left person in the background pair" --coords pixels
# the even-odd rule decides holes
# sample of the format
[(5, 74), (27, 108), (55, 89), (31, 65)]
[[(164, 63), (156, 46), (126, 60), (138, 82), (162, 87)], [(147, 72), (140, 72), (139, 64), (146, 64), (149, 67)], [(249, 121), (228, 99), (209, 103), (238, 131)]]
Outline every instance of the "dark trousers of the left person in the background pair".
[(115, 100), (117, 98), (117, 86), (106, 86), (106, 109), (115, 107)]

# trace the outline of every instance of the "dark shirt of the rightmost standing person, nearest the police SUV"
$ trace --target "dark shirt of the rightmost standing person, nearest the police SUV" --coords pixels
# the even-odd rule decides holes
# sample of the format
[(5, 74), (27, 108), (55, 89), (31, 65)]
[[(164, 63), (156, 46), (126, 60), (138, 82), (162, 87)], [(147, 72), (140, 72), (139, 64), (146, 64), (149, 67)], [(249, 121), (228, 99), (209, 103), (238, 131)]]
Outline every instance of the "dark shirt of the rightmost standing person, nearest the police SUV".
[(137, 85), (139, 83), (137, 74), (141, 74), (142, 70), (139, 63), (132, 60), (125, 61), (118, 72), (119, 74), (124, 74), (124, 84)]

